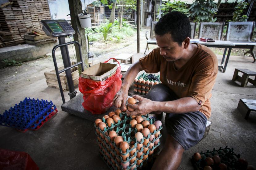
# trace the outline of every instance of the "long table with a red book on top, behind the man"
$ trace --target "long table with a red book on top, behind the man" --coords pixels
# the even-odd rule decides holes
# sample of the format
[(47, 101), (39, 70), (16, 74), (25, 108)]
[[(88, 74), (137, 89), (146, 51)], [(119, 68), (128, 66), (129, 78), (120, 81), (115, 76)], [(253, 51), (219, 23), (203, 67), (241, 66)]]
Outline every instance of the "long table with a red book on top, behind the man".
[[(194, 41), (194, 40), (191, 39), (191, 41)], [(215, 42), (199, 41), (197, 43), (205, 45), (207, 47), (225, 48), (224, 53), (223, 53), (223, 57), (222, 57), (222, 60), (221, 60), (221, 64), (218, 65), (218, 67), (223, 70), (223, 73), (225, 73), (227, 65), (228, 65), (228, 62), (229, 62), (229, 56), (230, 56), (230, 53), (231, 53), (231, 49), (232, 49), (232, 47), (235, 46), (235, 44), (232, 43), (231, 41), (217, 41), (217, 40)], [(229, 51), (228, 51), (228, 54), (227, 54), (227, 57), (226, 57), (227, 49), (229, 49)], [(226, 61), (225, 61), (225, 57), (226, 57)], [(225, 64), (224, 64), (224, 61), (225, 61)]]

